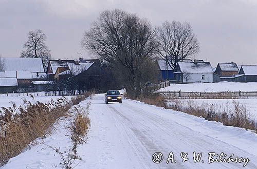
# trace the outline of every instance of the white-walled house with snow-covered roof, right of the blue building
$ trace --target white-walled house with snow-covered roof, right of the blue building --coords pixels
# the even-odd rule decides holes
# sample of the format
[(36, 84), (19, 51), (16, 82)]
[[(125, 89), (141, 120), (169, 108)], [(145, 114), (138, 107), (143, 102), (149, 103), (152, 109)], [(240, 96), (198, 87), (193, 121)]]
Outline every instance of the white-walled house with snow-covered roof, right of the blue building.
[(178, 62), (175, 68), (178, 83), (212, 83), (213, 70), (210, 62)]

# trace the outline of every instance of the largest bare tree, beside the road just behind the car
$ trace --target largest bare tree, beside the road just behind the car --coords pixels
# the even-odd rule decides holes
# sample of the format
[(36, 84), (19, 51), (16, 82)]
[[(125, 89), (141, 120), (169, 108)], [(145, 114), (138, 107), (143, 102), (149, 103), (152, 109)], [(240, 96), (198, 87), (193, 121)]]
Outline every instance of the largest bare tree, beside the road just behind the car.
[(116, 69), (131, 97), (142, 95), (154, 81), (155, 31), (135, 14), (102, 12), (84, 33), (82, 46)]

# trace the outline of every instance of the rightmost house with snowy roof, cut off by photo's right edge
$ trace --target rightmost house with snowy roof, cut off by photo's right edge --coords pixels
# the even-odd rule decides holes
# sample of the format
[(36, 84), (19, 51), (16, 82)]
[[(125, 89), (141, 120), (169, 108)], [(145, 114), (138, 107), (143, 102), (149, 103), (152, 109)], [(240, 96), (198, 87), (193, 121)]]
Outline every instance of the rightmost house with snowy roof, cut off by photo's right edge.
[(235, 78), (236, 82), (257, 82), (257, 65), (242, 65)]

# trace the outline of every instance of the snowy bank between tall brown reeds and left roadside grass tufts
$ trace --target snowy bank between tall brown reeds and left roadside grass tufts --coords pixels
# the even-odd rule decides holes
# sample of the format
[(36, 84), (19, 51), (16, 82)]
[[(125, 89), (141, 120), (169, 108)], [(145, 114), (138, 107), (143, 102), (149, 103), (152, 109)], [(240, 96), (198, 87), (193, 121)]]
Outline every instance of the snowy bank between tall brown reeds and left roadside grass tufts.
[[(80, 102), (80, 105), (85, 107), (89, 99)], [(75, 105), (76, 106), (76, 105)], [(75, 106), (71, 107), (74, 108)], [(72, 117), (61, 118), (56, 124), (53, 125), (53, 132), (51, 136), (44, 139), (36, 139), (38, 144), (27, 149), (27, 151), (20, 155), (11, 158), (9, 163), (0, 167), (1, 169), (28, 169), (28, 168), (62, 168), (60, 162), (62, 161), (60, 155), (54, 151), (59, 149), (61, 153), (69, 152), (72, 141), (67, 126), (70, 125)], [(52, 147), (52, 148), (51, 148)], [(54, 149), (53, 149), (54, 148)], [(65, 154), (65, 153), (64, 153)], [(76, 160), (78, 164), (80, 160)], [(72, 166), (74, 167), (74, 166)]]

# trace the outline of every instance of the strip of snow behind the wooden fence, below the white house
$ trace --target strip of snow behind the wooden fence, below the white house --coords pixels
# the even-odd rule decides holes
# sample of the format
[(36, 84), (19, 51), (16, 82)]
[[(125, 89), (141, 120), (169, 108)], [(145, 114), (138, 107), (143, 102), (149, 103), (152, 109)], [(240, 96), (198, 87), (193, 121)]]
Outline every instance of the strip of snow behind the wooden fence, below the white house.
[(161, 88), (159, 91), (257, 91), (257, 82), (218, 82), (218, 83), (189, 83), (171, 84), (171, 86)]

